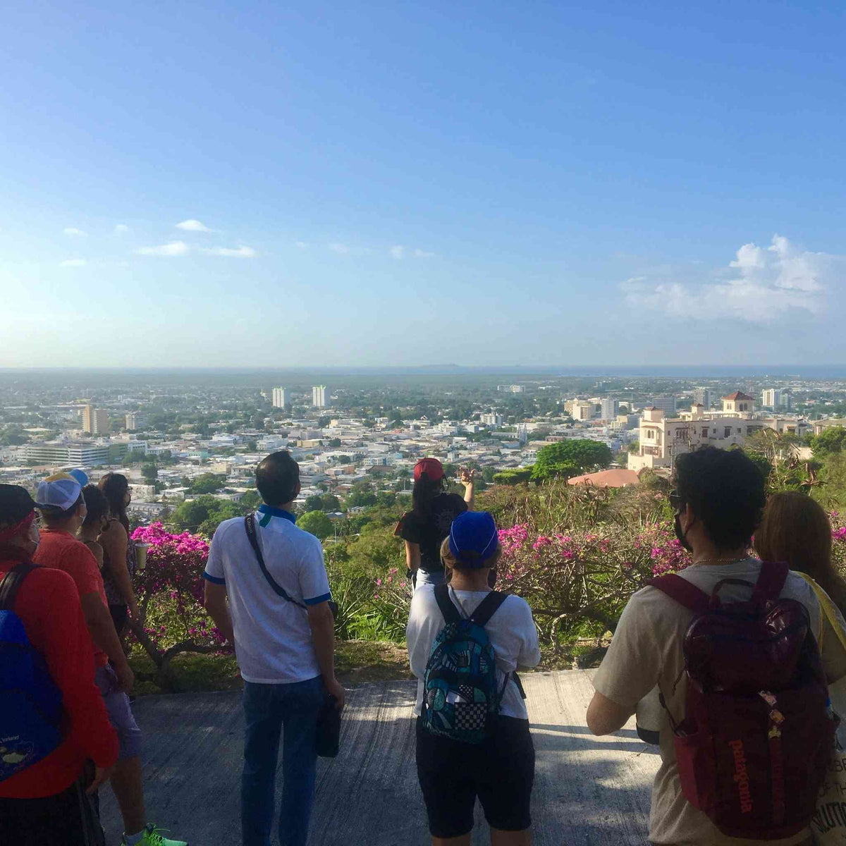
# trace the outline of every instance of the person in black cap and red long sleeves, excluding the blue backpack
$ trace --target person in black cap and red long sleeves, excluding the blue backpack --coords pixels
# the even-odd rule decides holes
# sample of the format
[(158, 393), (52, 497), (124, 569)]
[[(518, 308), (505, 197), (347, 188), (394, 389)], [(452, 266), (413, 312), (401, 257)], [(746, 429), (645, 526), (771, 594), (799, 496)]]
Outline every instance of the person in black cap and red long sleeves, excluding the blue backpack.
[[(31, 563), (38, 546), (35, 503), (24, 488), (0, 485), (0, 580)], [(91, 635), (68, 574), (36, 567), (12, 609), (62, 693), (62, 743), (41, 761), (0, 781), (0, 843), (79, 846), (102, 843), (89, 794), (118, 759), (118, 736), (94, 684)], [(92, 763), (91, 763), (92, 762)]]

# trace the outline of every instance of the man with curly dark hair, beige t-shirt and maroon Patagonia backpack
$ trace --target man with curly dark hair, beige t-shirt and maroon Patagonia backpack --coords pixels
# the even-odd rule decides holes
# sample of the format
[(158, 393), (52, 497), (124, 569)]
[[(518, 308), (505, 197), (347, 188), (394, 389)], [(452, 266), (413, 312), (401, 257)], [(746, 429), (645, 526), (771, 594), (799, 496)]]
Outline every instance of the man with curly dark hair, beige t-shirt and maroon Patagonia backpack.
[(670, 499), (693, 564), (629, 600), (594, 677), (588, 727), (622, 728), (657, 684), (651, 843), (811, 843), (837, 726), (827, 684), (846, 676), (846, 650), (824, 635), (846, 623), (821, 614), (787, 564), (750, 556), (765, 480), (742, 451), (678, 456)]

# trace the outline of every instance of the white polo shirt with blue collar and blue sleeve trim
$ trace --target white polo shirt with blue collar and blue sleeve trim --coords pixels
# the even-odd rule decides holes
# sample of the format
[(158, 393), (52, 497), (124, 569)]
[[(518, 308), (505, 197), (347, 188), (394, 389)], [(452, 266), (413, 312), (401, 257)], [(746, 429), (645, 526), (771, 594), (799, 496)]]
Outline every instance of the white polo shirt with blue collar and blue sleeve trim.
[[(255, 515), (255, 533), (267, 572), (288, 596), (305, 605), (331, 598), (323, 549), (314, 535), (298, 529), (281, 509)], [(271, 517), (266, 525), (267, 513)], [(262, 519), (263, 518), (263, 519)], [(204, 578), (226, 585), (235, 631), (235, 656), (244, 681), (289, 684), (319, 676), (305, 608), (277, 596), (261, 572), (244, 528), (234, 517), (217, 526)]]

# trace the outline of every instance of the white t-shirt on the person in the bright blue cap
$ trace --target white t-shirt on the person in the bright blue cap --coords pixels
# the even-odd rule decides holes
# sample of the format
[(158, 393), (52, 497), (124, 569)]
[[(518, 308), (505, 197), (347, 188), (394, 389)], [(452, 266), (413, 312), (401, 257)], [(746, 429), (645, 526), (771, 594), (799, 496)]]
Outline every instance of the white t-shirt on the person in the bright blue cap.
[[(453, 604), (460, 606), (467, 617), (475, 611), (488, 593), (489, 591), (449, 589)], [(426, 664), (429, 662), (432, 644), (445, 625), (435, 598), (435, 585), (419, 585), (411, 600), (409, 624), (405, 630), (411, 672), (418, 679), (415, 705), (415, 714), (418, 717), (423, 704), (423, 676), (426, 673)], [(519, 596), (506, 597), (505, 602), (497, 608), (497, 612), (486, 624), (485, 630), (491, 639), (497, 662), (497, 684), (500, 688), (505, 682), (506, 673), (514, 673), (518, 664), (522, 667), (535, 667), (541, 661), (537, 629), (531, 617), (531, 608), (525, 599)], [(529, 719), (525, 702), (514, 680), (508, 681), (499, 712), (503, 717)]]

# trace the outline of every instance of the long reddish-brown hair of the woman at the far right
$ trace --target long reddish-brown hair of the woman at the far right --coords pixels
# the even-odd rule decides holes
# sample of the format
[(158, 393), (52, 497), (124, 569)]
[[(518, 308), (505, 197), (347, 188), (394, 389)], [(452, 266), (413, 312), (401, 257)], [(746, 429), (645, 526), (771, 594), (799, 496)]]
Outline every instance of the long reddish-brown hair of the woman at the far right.
[(832, 525), (816, 500), (795, 491), (774, 493), (755, 531), (755, 552), (807, 573), (842, 613), (846, 610), (846, 581), (832, 565)]

